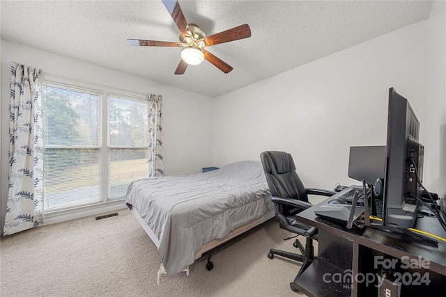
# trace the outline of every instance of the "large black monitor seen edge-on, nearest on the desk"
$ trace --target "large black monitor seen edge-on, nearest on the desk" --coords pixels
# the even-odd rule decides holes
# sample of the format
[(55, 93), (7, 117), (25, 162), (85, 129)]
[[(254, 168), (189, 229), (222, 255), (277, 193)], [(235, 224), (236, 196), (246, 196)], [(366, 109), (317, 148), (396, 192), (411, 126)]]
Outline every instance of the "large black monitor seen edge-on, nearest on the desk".
[[(387, 158), (385, 164), (383, 223), (413, 227), (421, 198), (424, 147), (418, 142), (420, 122), (406, 98), (389, 90)], [(413, 161), (411, 161), (413, 160)], [(414, 162), (414, 163), (412, 163)], [(415, 170), (416, 169), (416, 170)]]

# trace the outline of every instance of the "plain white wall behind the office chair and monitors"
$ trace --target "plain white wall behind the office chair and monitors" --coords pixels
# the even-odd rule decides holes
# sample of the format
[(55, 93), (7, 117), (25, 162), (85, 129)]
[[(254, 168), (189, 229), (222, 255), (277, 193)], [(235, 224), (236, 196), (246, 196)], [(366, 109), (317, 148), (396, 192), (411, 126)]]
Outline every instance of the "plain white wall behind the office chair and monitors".
[(349, 147), (386, 144), (390, 87), (410, 101), (426, 143), (427, 32), (418, 22), (217, 97), (215, 166), (284, 150), (307, 187), (358, 184)]

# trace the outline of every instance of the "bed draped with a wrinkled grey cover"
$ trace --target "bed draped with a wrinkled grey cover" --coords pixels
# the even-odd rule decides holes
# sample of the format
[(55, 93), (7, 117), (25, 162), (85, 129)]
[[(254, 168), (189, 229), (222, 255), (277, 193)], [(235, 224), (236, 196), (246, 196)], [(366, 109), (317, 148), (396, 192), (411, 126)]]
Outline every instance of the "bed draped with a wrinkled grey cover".
[[(176, 275), (203, 252), (274, 216), (260, 162), (194, 175), (137, 179), (126, 204), (160, 252), (160, 273)], [(158, 278), (159, 280), (159, 278)]]

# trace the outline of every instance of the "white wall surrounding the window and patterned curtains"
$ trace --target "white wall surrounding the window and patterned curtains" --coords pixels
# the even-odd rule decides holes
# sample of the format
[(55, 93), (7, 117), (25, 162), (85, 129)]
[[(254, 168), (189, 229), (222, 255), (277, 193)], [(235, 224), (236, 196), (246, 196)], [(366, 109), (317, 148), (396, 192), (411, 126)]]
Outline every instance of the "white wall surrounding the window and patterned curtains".
[(9, 83), (12, 62), (76, 81), (91, 82), (163, 99), (164, 166), (167, 175), (201, 172), (213, 165), (213, 99), (155, 81), (132, 77), (45, 51), (1, 41), (1, 227), (8, 196)]

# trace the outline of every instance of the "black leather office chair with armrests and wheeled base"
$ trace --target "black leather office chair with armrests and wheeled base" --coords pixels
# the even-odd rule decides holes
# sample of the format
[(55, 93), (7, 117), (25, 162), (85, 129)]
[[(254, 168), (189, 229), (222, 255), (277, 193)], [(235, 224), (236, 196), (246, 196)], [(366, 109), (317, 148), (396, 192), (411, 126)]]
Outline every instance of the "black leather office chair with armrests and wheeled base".
[[(296, 220), (295, 214), (312, 207), (308, 202), (308, 195), (332, 196), (334, 191), (321, 190), (317, 188), (305, 188), (302, 181), (295, 172), (295, 165), (291, 154), (286, 152), (263, 152), (260, 155), (263, 170), (266, 174), (266, 181), (274, 202), (275, 218), (279, 222), (282, 229), (288, 230), (298, 235), (306, 237), (305, 248), (298, 239), (295, 240), (293, 246), (300, 249), (299, 254), (276, 250), (272, 248), (268, 252), (268, 258), (272, 259), (274, 255), (293, 259), (302, 262), (302, 267), (296, 280), (301, 273), (312, 264), (314, 260), (313, 239), (317, 240), (317, 230), (305, 223)], [(293, 291), (298, 291), (294, 287), (294, 282), (290, 283)]]

